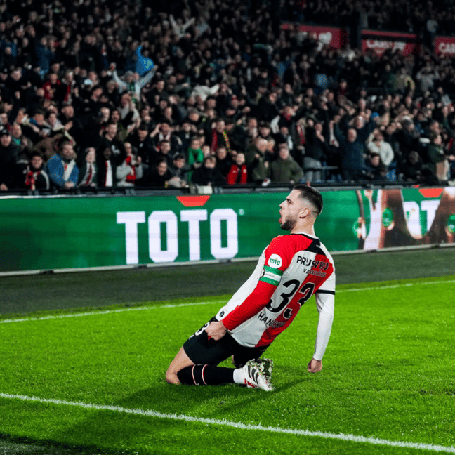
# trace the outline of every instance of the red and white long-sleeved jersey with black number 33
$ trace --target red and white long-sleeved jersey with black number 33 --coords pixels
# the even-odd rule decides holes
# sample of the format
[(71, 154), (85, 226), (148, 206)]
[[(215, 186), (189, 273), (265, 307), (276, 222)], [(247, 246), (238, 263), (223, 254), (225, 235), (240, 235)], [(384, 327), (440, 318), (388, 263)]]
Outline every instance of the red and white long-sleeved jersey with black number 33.
[(240, 345), (267, 346), (313, 294), (319, 312), (314, 358), (322, 360), (334, 317), (335, 268), (317, 237), (291, 234), (272, 239), (249, 279), (216, 319)]

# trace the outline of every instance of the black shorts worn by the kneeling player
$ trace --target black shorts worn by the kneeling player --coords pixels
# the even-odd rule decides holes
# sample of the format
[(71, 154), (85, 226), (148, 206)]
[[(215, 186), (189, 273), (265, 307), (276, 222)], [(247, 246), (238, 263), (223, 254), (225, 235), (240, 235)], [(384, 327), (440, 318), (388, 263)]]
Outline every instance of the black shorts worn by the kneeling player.
[(218, 365), (223, 360), (226, 360), (231, 355), (234, 356), (234, 364), (236, 367), (242, 367), (251, 359), (261, 357), (268, 346), (261, 348), (246, 348), (239, 345), (229, 333), (226, 333), (223, 338), (216, 341), (211, 338), (205, 331), (206, 327), (212, 321), (216, 321), (213, 317), (207, 324), (194, 332), (190, 338), (183, 343), (183, 350), (194, 364)]

